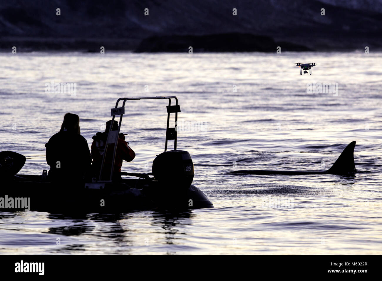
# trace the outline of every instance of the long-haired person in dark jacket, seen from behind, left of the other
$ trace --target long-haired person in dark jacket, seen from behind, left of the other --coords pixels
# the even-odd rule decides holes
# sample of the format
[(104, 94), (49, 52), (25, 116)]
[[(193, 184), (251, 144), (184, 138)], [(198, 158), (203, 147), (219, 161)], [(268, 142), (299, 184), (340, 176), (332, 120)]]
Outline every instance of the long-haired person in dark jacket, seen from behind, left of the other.
[(66, 113), (60, 132), (45, 147), (52, 181), (80, 182), (90, 170), (91, 154), (86, 139), (81, 136), (78, 115)]

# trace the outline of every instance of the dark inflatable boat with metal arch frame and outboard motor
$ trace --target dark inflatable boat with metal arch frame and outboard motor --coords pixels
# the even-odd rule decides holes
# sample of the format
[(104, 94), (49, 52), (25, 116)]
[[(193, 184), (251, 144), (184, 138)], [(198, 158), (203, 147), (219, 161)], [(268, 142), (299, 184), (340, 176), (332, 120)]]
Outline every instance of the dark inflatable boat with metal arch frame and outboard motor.
[[(122, 177), (121, 180), (115, 181), (113, 170), (125, 103), (140, 99), (168, 99), (164, 152), (154, 159), (151, 173), (121, 172), (122, 175), (133, 178)], [(174, 105), (171, 104), (172, 100), (175, 100)], [(214, 205), (206, 195), (192, 184), (194, 166), (190, 154), (176, 149), (178, 112), (180, 106), (175, 96), (119, 98), (115, 107), (111, 109), (112, 122), (116, 116), (120, 116), (118, 130), (112, 130), (110, 127), (98, 179), (65, 183), (52, 182), (46, 170), (41, 175), (18, 174), (24, 165), (25, 157), (15, 152), (3, 151), (0, 156), (0, 174), (5, 180), (0, 188), (0, 211), (121, 213), (133, 210), (179, 211), (213, 208)], [(172, 113), (175, 114), (175, 127), (169, 127)], [(173, 140), (174, 143), (172, 150), (167, 150), (169, 140)], [(112, 144), (112, 168), (105, 169), (107, 147)], [(105, 179), (106, 170), (110, 171), (110, 175)]]

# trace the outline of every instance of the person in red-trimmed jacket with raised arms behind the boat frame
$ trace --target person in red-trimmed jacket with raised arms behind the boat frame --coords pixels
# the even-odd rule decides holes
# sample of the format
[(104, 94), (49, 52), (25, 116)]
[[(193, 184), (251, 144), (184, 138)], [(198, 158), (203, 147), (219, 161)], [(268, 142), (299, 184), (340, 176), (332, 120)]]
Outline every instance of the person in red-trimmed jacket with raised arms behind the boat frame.
[[(93, 158), (92, 162), (92, 175), (98, 179), (102, 158), (104, 156), (105, 144), (107, 140), (107, 135), (112, 124), (112, 120), (106, 122), (105, 132), (98, 132), (95, 136), (93, 136), (93, 143), (91, 148), (91, 154)], [(118, 130), (118, 122), (114, 120), (112, 131)], [(114, 164), (114, 172), (113, 172), (113, 181), (120, 181), (121, 179), (121, 167), (122, 160), (127, 162), (133, 161), (135, 158), (135, 153), (133, 149), (128, 146), (128, 142), (125, 141), (125, 136), (120, 133), (117, 143), (117, 151), (115, 153), (115, 164)], [(114, 152), (114, 144), (110, 143), (107, 148), (106, 159), (104, 163), (104, 168), (102, 172), (102, 180), (110, 179), (110, 171), (112, 168), (113, 161), (113, 152)]]

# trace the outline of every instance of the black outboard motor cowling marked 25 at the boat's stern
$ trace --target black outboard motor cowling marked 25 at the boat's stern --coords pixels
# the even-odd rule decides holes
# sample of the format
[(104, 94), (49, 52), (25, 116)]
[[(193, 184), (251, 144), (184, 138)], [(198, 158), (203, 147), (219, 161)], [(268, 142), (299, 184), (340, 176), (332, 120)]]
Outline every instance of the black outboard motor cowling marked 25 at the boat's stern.
[(183, 150), (165, 151), (152, 162), (152, 174), (164, 187), (186, 190), (194, 179), (191, 155)]

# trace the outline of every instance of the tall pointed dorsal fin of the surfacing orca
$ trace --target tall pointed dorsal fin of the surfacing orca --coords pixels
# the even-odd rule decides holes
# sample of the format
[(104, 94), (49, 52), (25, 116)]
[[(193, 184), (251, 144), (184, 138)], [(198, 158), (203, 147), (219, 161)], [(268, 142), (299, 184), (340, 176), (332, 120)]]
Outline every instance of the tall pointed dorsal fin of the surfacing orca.
[(343, 149), (340, 157), (334, 162), (333, 166), (327, 171), (329, 174), (346, 175), (356, 172), (354, 165), (354, 146), (355, 141), (352, 141)]

